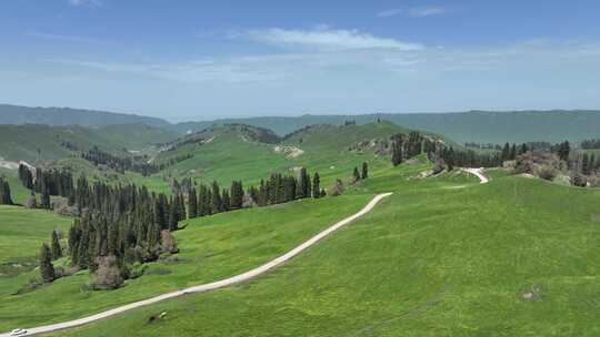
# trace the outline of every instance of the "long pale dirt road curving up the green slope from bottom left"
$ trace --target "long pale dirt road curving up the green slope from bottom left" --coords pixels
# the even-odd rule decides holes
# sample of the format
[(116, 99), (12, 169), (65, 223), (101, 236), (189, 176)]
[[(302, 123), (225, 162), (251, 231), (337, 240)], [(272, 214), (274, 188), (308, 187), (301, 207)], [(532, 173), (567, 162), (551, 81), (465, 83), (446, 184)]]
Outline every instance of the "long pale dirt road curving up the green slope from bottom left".
[[(237, 276), (233, 276), (233, 277), (229, 277), (229, 278), (226, 278), (226, 279), (221, 279), (221, 280), (218, 280), (218, 282), (209, 283), (209, 284), (203, 284), (203, 285), (193, 286), (193, 287), (190, 287), (190, 288), (186, 288), (186, 289), (181, 289), (181, 290), (177, 290), (177, 292), (172, 292), (172, 293), (167, 293), (167, 294), (159, 295), (159, 296), (156, 296), (156, 297), (152, 297), (152, 298), (149, 298), (149, 299), (130, 303), (128, 305), (123, 305), (123, 306), (117, 307), (114, 309), (110, 309), (110, 310), (99, 313), (99, 314), (96, 314), (96, 315), (92, 315), (92, 316), (88, 316), (88, 317), (84, 317), (84, 318), (73, 319), (73, 320), (63, 321), (63, 323), (57, 323), (57, 324), (36, 327), (36, 328), (28, 328), (27, 334), (20, 335), (20, 336), (32, 336), (32, 335), (37, 335), (37, 334), (52, 333), (52, 331), (57, 331), (57, 330), (61, 330), (61, 329), (72, 328), (72, 327), (86, 325), (86, 324), (89, 324), (89, 323), (92, 323), (92, 321), (96, 321), (96, 320), (100, 320), (100, 319), (103, 319), (103, 318), (107, 318), (107, 317), (111, 317), (111, 316), (124, 313), (127, 310), (131, 310), (131, 309), (134, 309), (134, 308), (139, 308), (139, 307), (142, 307), (142, 306), (154, 304), (154, 303), (166, 300), (166, 299), (169, 299), (169, 298), (178, 297), (178, 296), (181, 296), (181, 295), (210, 292), (210, 290), (213, 290), (213, 289), (228, 287), (228, 286), (238, 284), (238, 283), (242, 283), (242, 282), (252, 279), (252, 278), (254, 278), (254, 277), (257, 277), (257, 276), (259, 276), (261, 274), (264, 274), (264, 273), (269, 272), (270, 269), (283, 264), (284, 262), (291, 259), (296, 255), (300, 254), (302, 251), (304, 251), (304, 249), (309, 248), (310, 246), (314, 245), (316, 243), (318, 243), (323, 237), (330, 235), (331, 233), (336, 232), (337, 229), (348, 225), (349, 223), (353, 222), (354, 219), (357, 219), (357, 218), (361, 217), (362, 215), (369, 213), (371, 210), (373, 210), (373, 207), (382, 198), (384, 198), (384, 197), (387, 197), (389, 195), (391, 195), (391, 193), (378, 194), (362, 210), (360, 210), (358, 213), (356, 213), (356, 214), (353, 214), (353, 215), (351, 215), (351, 216), (336, 223), (331, 227), (329, 227), (329, 228), (322, 231), (321, 233), (314, 235), (309, 241), (307, 241), (303, 244), (299, 245), (298, 247), (291, 249), (290, 252), (286, 253), (284, 255), (281, 255), (278, 258), (272, 259), (271, 262), (268, 262), (267, 264), (264, 264), (264, 265), (262, 265), (260, 267), (257, 267), (254, 269), (251, 269), (249, 272), (246, 272), (243, 274), (240, 274), (240, 275), (237, 275)], [(8, 336), (10, 336), (10, 333), (0, 334), (0, 337), (8, 337)]]

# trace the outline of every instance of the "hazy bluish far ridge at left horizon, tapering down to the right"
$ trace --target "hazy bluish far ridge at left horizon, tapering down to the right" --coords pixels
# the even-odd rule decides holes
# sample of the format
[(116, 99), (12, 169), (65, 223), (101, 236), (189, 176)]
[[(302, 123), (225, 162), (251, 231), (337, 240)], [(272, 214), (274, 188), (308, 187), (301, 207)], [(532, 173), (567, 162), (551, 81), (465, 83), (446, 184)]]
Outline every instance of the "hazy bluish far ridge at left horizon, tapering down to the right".
[(149, 126), (168, 126), (169, 122), (134, 114), (104, 111), (81, 110), (71, 108), (28, 108), (0, 104), (0, 124), (47, 124), (47, 125), (83, 125), (102, 126), (112, 124), (146, 124)]

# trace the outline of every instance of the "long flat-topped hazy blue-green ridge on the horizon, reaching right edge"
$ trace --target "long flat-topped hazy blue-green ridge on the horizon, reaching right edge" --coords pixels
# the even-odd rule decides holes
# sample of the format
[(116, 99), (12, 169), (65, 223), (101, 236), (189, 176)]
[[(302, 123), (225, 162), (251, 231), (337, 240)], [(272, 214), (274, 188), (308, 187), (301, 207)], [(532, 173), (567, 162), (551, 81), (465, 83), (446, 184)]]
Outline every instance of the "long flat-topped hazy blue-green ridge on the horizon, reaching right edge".
[(212, 124), (243, 123), (271, 129), (280, 135), (312, 124), (359, 124), (377, 119), (443, 134), (457, 142), (581, 141), (600, 136), (600, 111), (518, 111), (362, 115), (302, 115), (296, 118), (223, 119), (174, 125), (178, 132), (199, 131)]

